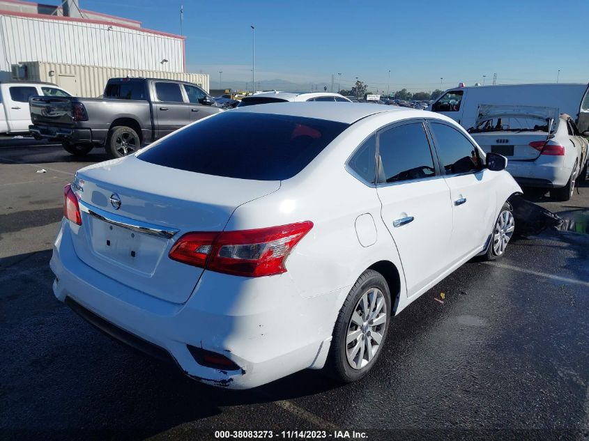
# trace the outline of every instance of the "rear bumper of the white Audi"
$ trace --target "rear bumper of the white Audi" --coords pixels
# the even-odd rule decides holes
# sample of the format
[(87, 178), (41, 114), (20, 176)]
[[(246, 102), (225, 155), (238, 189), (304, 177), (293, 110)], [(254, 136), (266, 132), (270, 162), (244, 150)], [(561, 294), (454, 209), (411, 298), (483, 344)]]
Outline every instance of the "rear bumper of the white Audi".
[(562, 160), (553, 160), (552, 158), (554, 157), (551, 157), (547, 161), (542, 157), (536, 161), (508, 159), (507, 171), (522, 186), (544, 188), (564, 187), (567, 185), (572, 169), (565, 167)]

